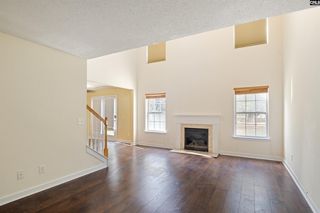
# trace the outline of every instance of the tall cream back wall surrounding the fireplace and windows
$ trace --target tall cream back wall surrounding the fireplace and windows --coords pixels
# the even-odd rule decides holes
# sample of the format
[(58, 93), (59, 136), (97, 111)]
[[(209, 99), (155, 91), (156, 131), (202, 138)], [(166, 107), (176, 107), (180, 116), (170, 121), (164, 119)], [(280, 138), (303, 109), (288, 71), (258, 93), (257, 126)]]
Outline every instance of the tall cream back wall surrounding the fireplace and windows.
[[(233, 88), (269, 86), (271, 142), (234, 140)], [(166, 92), (166, 134), (144, 132), (145, 93)], [(233, 48), (233, 27), (166, 42), (166, 61), (146, 64), (138, 50), (138, 143), (175, 146), (175, 114), (221, 115), (219, 151), (282, 156), (281, 17), (269, 43)]]

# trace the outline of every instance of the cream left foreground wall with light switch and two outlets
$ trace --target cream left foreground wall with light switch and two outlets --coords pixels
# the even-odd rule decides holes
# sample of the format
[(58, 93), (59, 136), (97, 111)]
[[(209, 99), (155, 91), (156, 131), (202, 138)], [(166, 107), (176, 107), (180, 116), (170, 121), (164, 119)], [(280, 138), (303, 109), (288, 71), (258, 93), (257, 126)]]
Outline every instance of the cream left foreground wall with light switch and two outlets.
[(0, 33), (0, 100), (0, 199), (101, 164), (77, 125), (86, 60)]

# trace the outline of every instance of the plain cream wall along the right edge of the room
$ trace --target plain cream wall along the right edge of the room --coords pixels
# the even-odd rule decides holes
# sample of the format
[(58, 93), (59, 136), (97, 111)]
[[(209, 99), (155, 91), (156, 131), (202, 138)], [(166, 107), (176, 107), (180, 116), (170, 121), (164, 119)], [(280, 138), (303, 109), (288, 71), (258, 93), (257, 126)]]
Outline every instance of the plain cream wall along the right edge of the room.
[[(284, 159), (320, 211), (320, 7), (283, 16)], [(291, 161), (291, 154), (293, 161)]]

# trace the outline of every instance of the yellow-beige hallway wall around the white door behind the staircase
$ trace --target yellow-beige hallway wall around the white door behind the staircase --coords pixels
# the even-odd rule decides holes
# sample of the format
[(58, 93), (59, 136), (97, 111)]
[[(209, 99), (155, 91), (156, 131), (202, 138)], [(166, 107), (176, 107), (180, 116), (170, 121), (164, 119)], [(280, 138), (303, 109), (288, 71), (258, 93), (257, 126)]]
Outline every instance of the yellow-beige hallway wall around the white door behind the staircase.
[[(86, 103), (91, 106), (94, 96), (117, 96), (117, 140), (133, 143), (133, 90), (123, 88), (100, 89), (87, 92)], [(129, 135), (128, 135), (129, 134)]]

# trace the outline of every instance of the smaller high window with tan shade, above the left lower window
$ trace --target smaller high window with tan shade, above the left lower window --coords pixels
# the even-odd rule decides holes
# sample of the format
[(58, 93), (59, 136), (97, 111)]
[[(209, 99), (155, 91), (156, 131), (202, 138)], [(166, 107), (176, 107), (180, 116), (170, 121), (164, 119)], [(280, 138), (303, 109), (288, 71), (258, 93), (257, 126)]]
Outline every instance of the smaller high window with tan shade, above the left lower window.
[(165, 61), (165, 41), (147, 46), (147, 63)]

